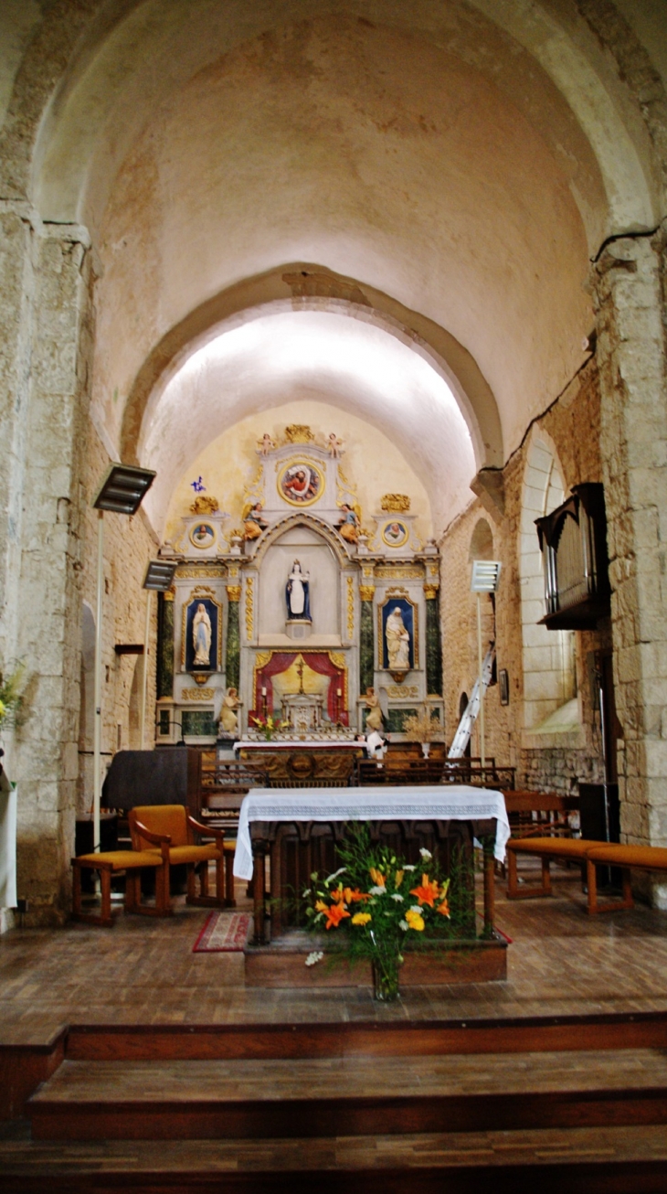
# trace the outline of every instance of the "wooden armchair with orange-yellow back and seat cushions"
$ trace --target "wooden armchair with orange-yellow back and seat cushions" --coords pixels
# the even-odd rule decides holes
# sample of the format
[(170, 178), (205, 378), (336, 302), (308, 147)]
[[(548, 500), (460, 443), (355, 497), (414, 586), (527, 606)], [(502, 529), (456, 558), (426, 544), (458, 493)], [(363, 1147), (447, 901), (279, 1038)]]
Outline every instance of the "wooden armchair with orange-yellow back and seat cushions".
[[(132, 850), (168, 848), (169, 866), (187, 867), (187, 904), (206, 907), (224, 906), (224, 831), (200, 825), (184, 805), (140, 805), (130, 808), (128, 820)], [(208, 845), (197, 845), (194, 833), (212, 837)], [(209, 862), (216, 864), (216, 893), (209, 896)], [(199, 867), (199, 894), (194, 891), (194, 873)]]

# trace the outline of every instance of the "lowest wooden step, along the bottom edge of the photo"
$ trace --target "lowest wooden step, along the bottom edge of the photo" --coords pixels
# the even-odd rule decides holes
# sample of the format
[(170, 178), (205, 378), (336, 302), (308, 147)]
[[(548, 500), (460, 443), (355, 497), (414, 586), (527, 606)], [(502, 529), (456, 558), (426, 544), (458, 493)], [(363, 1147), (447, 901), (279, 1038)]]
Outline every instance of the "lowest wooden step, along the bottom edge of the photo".
[(7, 1194), (632, 1194), (667, 1187), (657, 1127), (274, 1140), (0, 1139)]

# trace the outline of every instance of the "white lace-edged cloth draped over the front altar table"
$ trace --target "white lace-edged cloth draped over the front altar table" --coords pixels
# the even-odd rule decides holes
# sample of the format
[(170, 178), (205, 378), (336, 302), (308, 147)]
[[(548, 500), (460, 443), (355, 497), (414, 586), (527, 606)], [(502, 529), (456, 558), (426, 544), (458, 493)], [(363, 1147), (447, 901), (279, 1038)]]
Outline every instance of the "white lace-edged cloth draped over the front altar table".
[(401, 788), (258, 788), (243, 799), (234, 874), (253, 878), (251, 821), (495, 820), (494, 854), (505, 861), (509, 821), (501, 792), (468, 784)]

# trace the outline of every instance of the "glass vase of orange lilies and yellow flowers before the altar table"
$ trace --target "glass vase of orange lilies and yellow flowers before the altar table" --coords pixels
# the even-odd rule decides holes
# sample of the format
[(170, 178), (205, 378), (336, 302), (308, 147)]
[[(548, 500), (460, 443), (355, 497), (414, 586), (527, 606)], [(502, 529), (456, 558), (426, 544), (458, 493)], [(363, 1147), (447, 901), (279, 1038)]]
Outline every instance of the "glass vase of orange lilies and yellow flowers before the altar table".
[[(368, 826), (354, 826), (338, 849), (342, 866), (326, 879), (313, 874), (303, 892), (308, 927), (346, 937), (350, 959), (369, 959), (378, 999), (399, 995), (403, 948), (420, 935), (451, 937), (450, 879), (430, 850), (409, 864), (387, 845), (371, 843)], [(307, 966), (321, 958), (313, 952)]]

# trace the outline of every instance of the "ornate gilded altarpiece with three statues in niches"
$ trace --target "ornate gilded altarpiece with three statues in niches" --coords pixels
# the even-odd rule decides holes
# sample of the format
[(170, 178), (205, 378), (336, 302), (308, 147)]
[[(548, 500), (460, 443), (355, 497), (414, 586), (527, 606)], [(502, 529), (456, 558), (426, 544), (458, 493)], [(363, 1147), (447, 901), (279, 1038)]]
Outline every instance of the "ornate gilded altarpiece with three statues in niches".
[(366, 718), (397, 741), (424, 710), (444, 731), (440, 560), (424, 504), (375, 492), (382, 462), (356, 476), (328, 429), (266, 431), (235, 468), (242, 490), (197, 490), (160, 549), (177, 568), (159, 595), (156, 745), (279, 731), (340, 758)]

